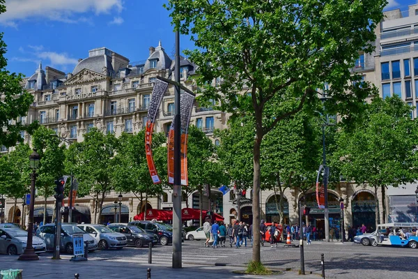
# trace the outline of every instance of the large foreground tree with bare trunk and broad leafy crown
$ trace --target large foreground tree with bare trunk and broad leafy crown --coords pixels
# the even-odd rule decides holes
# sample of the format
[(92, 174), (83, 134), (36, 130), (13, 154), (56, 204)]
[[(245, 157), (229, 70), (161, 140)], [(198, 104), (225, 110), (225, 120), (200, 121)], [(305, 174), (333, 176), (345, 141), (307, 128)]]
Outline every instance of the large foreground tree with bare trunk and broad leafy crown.
[[(359, 51), (371, 52), (385, 0), (233, 1), (169, 0), (173, 24), (196, 45), (185, 54), (198, 66), (203, 99), (254, 117), (253, 226), (260, 223), (260, 149), (279, 121), (314, 103), (332, 84), (327, 103), (346, 117), (369, 95), (348, 68)], [(359, 15), (362, 15), (359, 17)], [(341, 24), (343, 22), (343, 24)], [(212, 83), (220, 79), (220, 82)], [(348, 93), (349, 92), (349, 93)], [(332, 105), (330, 105), (332, 104)], [(254, 234), (253, 261), (261, 262)]]

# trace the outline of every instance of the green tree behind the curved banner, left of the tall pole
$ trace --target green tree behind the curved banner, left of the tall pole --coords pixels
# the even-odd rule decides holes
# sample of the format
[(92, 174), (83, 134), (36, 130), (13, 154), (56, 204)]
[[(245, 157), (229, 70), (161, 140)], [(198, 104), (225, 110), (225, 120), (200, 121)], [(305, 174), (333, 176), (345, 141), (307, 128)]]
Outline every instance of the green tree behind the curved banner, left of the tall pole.
[(137, 199), (148, 204), (148, 197), (162, 195), (162, 185), (167, 184), (167, 141), (164, 133), (153, 134), (153, 158), (162, 183), (153, 184), (148, 171), (145, 152), (145, 130), (132, 135), (123, 133), (118, 138), (117, 155), (112, 183), (115, 190), (132, 192)]

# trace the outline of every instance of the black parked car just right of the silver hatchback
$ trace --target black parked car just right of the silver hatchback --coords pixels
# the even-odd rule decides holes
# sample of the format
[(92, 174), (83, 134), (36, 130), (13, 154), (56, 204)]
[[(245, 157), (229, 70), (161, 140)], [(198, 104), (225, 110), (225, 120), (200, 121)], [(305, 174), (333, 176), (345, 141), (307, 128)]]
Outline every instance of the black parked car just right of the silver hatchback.
[(158, 243), (158, 237), (154, 234), (149, 234), (140, 227), (134, 225), (128, 225), (126, 223), (112, 223), (107, 225), (109, 229), (114, 232), (120, 232), (127, 239), (127, 245), (142, 247), (144, 245), (149, 246)]

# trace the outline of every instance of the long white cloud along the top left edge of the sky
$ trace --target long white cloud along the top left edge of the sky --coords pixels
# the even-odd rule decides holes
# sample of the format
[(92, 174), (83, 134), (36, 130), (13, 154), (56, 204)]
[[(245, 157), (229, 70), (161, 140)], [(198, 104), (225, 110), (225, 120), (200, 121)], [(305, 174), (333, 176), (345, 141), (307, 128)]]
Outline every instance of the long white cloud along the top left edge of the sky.
[(20, 20), (38, 19), (77, 23), (76, 13), (91, 12), (95, 15), (123, 9), (122, 0), (10, 0), (6, 2), (6, 13), (0, 17), (0, 24), (17, 27)]

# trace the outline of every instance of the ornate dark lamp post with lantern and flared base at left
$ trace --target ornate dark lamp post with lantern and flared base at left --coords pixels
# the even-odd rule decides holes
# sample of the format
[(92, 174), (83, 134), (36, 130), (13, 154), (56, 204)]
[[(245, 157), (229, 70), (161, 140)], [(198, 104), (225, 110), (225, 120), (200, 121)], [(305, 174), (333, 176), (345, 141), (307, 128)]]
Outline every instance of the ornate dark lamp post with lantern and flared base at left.
[(33, 249), (32, 239), (33, 239), (33, 206), (35, 204), (35, 182), (36, 182), (36, 169), (39, 167), (39, 154), (36, 152), (36, 149), (33, 149), (33, 152), (29, 156), (29, 165), (32, 169), (31, 173), (31, 204), (29, 204), (29, 224), (28, 224), (28, 239), (26, 241), (26, 248), (20, 257), (18, 258), (21, 261), (30, 261), (34, 259), (39, 259), (38, 255)]

